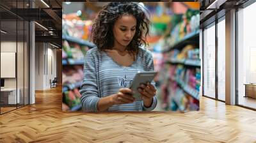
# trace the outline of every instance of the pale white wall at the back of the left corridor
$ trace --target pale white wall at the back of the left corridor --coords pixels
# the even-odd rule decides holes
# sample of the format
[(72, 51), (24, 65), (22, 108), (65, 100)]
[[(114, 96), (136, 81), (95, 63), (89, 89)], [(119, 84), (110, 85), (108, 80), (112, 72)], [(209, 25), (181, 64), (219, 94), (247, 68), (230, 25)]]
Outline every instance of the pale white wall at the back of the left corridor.
[(51, 88), (50, 79), (56, 77), (56, 49), (52, 48), (48, 43), (36, 43), (36, 90)]

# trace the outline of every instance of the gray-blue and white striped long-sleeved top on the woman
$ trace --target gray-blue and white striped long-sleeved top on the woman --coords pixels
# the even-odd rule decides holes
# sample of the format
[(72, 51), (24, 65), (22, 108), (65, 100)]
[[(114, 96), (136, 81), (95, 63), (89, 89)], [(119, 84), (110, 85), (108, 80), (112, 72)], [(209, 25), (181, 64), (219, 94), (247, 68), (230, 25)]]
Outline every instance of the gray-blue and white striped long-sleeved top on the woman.
[[(97, 47), (88, 50), (84, 60), (84, 80), (80, 91), (82, 109), (86, 112), (97, 112), (99, 99), (117, 93), (122, 87), (129, 87), (138, 71), (154, 71), (153, 57), (149, 50), (139, 48), (136, 61), (131, 66), (120, 66)], [(143, 106), (143, 100), (136, 100), (133, 103), (113, 105), (108, 110), (153, 110), (156, 104), (157, 98), (154, 96), (153, 103), (148, 108)]]

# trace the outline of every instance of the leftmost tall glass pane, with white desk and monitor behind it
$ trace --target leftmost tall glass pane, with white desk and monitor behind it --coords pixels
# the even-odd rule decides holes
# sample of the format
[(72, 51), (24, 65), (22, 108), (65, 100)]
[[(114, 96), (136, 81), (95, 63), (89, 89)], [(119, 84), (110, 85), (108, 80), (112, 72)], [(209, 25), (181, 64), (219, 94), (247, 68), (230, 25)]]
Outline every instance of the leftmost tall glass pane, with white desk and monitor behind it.
[(17, 92), (16, 57), (17, 21), (1, 19), (1, 113), (16, 109), (16, 104), (20, 101)]

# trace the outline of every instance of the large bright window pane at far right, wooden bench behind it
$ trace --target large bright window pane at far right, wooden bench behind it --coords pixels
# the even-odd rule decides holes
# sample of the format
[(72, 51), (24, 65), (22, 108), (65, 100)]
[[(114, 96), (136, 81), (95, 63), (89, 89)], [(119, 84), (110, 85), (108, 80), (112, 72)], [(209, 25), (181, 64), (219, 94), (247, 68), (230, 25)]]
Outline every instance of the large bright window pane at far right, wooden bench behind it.
[(237, 12), (238, 104), (256, 109), (256, 3)]

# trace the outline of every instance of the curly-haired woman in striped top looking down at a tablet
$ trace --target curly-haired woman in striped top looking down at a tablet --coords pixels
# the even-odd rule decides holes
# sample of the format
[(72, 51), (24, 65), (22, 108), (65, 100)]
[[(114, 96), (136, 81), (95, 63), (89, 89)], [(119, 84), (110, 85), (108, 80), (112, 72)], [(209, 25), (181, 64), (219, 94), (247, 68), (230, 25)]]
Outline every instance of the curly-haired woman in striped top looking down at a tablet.
[(84, 111), (153, 110), (157, 104), (154, 82), (141, 84), (142, 100), (129, 89), (139, 71), (154, 71), (147, 46), (148, 17), (136, 3), (113, 2), (99, 11), (92, 38), (97, 45), (88, 50), (84, 62), (81, 103)]

